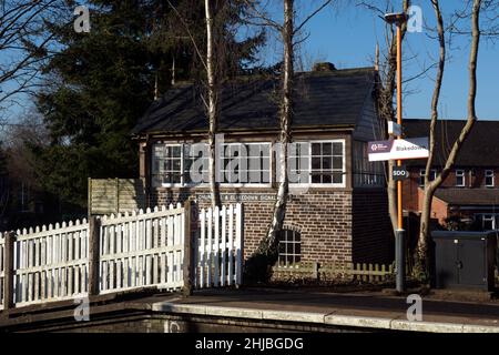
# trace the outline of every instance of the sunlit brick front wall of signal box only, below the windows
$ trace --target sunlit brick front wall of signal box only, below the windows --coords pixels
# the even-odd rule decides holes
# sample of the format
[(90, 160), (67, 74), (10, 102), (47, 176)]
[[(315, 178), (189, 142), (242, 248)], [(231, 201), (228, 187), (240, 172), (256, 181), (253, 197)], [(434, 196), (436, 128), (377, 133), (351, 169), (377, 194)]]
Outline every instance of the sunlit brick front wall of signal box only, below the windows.
[[(201, 190), (196, 192), (207, 193)], [(157, 189), (150, 199), (151, 205), (183, 202), (190, 193), (187, 189)], [(246, 189), (244, 193), (274, 192)], [(208, 204), (208, 201), (201, 201), (197, 206), (207, 207)], [(243, 204), (244, 253), (247, 258), (265, 236), (274, 204), (271, 201)], [(352, 262), (350, 191), (312, 189), (305, 194), (293, 195), (287, 204), (284, 224), (297, 229), (302, 234), (302, 261)]]

